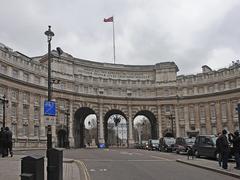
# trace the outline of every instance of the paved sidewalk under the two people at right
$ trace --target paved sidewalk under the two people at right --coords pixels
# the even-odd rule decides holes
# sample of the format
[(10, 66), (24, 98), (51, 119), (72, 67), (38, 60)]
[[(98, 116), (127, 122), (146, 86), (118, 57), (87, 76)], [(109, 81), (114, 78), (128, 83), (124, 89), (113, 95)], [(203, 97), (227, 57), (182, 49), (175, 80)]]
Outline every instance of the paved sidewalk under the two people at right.
[(202, 158), (195, 158), (195, 159), (187, 159), (187, 157), (176, 160), (179, 163), (188, 164), (191, 166), (207, 169), (210, 171), (214, 171), (220, 174), (225, 174), (228, 176), (232, 176), (235, 178), (240, 178), (240, 170), (234, 169), (236, 166), (235, 162), (228, 163), (228, 169), (224, 170), (219, 167), (218, 162), (214, 160), (202, 159)]

